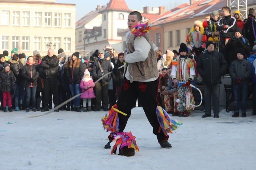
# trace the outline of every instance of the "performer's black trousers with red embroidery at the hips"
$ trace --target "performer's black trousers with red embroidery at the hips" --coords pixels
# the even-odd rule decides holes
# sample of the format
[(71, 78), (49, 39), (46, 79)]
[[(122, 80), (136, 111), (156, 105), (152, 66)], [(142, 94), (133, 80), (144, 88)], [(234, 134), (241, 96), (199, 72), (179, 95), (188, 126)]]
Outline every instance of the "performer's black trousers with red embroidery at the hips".
[(131, 109), (136, 104), (137, 98), (141, 99), (143, 110), (146, 114), (148, 121), (153, 127), (153, 133), (157, 136), (158, 142), (162, 140), (168, 140), (168, 136), (165, 136), (162, 129), (159, 131), (159, 123), (156, 116), (157, 102), (157, 87), (158, 80), (153, 82), (132, 82), (124, 79), (124, 83), (121, 87), (120, 96), (117, 101), (117, 108), (127, 114), (118, 113), (119, 118), (119, 132), (123, 132), (126, 123), (131, 116)]

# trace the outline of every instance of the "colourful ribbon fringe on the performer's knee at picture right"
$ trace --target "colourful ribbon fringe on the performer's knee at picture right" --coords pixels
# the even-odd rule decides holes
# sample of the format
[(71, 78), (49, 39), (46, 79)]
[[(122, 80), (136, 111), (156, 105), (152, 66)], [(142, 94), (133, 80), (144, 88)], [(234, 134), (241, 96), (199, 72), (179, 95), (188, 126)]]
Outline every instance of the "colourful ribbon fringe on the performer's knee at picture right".
[(162, 109), (161, 106), (156, 107), (156, 115), (157, 115), (157, 120), (160, 124), (160, 128), (163, 130), (163, 133), (167, 135), (167, 133), (171, 133), (172, 131), (175, 131), (178, 126), (177, 125), (182, 125), (182, 123), (178, 123), (175, 120), (172, 120), (172, 118), (168, 115), (168, 113)]

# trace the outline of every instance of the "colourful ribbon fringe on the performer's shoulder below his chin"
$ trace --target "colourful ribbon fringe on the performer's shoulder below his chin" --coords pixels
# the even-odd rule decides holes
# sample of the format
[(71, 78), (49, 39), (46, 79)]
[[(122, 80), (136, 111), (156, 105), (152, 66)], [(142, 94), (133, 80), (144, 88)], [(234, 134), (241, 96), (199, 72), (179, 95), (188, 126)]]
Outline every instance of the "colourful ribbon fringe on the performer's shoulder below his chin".
[(149, 30), (154, 30), (155, 28), (159, 27), (152, 27), (153, 23), (152, 22), (147, 22), (147, 23), (141, 23), (138, 21), (132, 28), (131, 28), (131, 33), (140, 37), (140, 36), (145, 36), (146, 33), (149, 33)]

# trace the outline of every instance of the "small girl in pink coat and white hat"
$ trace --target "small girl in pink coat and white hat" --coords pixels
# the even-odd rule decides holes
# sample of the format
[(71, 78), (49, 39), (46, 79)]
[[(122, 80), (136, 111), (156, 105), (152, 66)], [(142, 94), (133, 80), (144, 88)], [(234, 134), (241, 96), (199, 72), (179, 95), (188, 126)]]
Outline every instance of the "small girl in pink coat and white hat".
[(82, 95), (80, 96), (83, 99), (84, 112), (87, 112), (86, 102), (88, 102), (88, 111), (91, 111), (91, 98), (95, 98), (93, 88), (95, 84), (93, 79), (90, 77), (90, 72), (88, 69), (84, 71), (84, 77), (80, 82), (80, 88), (82, 89)]

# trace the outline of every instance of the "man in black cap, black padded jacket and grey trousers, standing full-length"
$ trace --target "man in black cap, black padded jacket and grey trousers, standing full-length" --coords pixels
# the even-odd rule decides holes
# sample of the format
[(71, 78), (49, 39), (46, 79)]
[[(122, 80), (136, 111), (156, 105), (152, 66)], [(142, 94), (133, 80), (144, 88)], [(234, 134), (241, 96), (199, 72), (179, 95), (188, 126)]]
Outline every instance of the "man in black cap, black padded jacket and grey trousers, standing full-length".
[(211, 115), (211, 96), (214, 118), (219, 117), (219, 92), (221, 86), (221, 76), (227, 69), (227, 62), (222, 53), (214, 50), (212, 41), (206, 43), (207, 51), (199, 55), (197, 60), (197, 72), (203, 78), (204, 89), (204, 110), (205, 114), (202, 118), (210, 117)]

